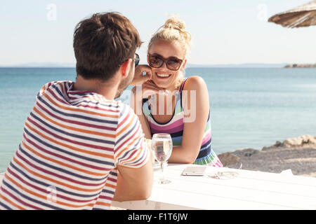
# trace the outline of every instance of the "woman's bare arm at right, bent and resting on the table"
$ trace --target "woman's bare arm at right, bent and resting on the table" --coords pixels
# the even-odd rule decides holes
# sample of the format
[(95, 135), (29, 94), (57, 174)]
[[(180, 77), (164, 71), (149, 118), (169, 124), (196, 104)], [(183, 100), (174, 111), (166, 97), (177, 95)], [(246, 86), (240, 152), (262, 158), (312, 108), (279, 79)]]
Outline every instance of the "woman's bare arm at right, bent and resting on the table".
[[(201, 148), (207, 118), (209, 116), (209, 91), (203, 78), (191, 76), (185, 82), (183, 109), (185, 123), (181, 146), (173, 147), (169, 162), (193, 163)], [(186, 98), (186, 99), (185, 99)]]

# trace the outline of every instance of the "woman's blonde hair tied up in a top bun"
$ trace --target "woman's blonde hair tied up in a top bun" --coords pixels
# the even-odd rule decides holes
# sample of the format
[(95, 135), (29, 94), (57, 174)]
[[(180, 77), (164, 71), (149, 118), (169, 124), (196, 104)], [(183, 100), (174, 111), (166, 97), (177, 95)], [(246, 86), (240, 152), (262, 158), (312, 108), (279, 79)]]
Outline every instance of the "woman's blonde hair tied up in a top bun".
[[(162, 27), (154, 33), (148, 44), (147, 53), (155, 41), (164, 40), (164, 41), (178, 41), (181, 48), (183, 49), (185, 58), (189, 55), (191, 50), (191, 34), (189, 31), (185, 30), (185, 22), (180, 20), (176, 15), (169, 17)], [(182, 83), (184, 78), (185, 71), (184, 69), (180, 72), (180, 75), (177, 79), (177, 87)]]

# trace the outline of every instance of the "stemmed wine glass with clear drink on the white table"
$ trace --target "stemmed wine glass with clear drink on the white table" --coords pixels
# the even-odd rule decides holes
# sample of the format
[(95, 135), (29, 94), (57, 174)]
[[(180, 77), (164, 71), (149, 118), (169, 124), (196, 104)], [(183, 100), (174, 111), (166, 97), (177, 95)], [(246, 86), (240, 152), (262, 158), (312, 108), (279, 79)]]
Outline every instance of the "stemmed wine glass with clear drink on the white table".
[(159, 183), (170, 183), (171, 181), (164, 178), (164, 165), (170, 158), (172, 152), (172, 139), (170, 134), (154, 134), (152, 136), (152, 152), (154, 153), (154, 158), (159, 162), (160, 169), (162, 170), (162, 179), (159, 180)]

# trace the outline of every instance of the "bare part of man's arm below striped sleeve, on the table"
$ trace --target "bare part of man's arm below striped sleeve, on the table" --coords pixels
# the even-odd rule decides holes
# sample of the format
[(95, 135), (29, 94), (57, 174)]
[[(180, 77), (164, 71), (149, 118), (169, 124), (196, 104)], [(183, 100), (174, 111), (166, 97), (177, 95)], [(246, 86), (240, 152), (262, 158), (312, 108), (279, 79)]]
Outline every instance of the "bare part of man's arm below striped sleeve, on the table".
[(140, 168), (129, 168), (118, 165), (117, 188), (114, 201), (146, 200), (152, 193), (152, 162)]

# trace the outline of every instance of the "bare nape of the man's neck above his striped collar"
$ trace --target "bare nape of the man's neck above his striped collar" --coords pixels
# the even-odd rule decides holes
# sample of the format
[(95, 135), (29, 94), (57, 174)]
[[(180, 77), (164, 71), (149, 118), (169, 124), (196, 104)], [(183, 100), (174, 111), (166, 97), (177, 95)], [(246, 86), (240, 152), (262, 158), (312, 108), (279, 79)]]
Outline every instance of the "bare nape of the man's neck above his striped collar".
[(117, 87), (118, 85), (115, 85), (112, 81), (101, 82), (97, 79), (88, 80), (78, 75), (72, 90), (96, 92), (103, 95), (105, 99), (112, 100), (117, 94)]

